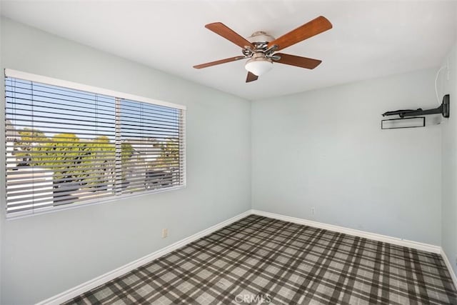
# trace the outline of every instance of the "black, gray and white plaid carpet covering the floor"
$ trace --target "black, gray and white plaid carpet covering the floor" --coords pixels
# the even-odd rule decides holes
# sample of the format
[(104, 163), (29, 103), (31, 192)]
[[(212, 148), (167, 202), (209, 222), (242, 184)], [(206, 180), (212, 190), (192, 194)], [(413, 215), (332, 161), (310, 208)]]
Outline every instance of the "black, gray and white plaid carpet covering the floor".
[(457, 304), (441, 256), (251, 215), (66, 304)]

